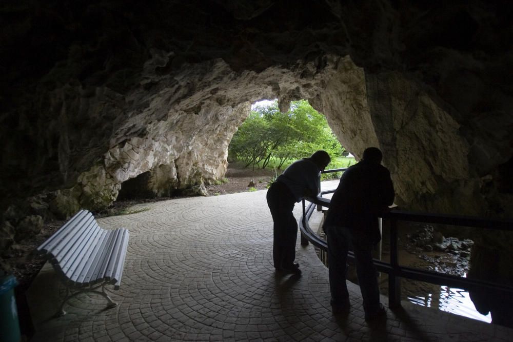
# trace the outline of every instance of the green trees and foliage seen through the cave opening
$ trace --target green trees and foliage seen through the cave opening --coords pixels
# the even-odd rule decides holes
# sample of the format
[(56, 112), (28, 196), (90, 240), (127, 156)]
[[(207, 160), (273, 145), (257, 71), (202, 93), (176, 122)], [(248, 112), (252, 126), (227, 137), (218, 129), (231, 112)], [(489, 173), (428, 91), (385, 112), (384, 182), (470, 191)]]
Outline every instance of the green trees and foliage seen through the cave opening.
[(345, 152), (324, 115), (307, 100), (292, 102), (286, 113), (280, 112), (275, 100), (251, 110), (233, 135), (229, 157), (253, 169), (281, 169), (291, 160), (308, 157), (317, 150), (325, 150), (332, 157)]

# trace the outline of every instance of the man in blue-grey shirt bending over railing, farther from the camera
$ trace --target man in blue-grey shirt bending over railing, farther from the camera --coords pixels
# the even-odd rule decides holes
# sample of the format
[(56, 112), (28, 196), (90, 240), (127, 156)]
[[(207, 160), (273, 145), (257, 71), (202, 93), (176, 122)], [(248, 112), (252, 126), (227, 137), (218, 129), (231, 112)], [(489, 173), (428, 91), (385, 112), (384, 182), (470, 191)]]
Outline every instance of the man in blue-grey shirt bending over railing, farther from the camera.
[(277, 271), (301, 273), (299, 265), (294, 264), (298, 223), (292, 210), (303, 197), (317, 196), (319, 173), (330, 160), (326, 151), (298, 160), (285, 169), (267, 191), (267, 205), (273, 220), (272, 259)]

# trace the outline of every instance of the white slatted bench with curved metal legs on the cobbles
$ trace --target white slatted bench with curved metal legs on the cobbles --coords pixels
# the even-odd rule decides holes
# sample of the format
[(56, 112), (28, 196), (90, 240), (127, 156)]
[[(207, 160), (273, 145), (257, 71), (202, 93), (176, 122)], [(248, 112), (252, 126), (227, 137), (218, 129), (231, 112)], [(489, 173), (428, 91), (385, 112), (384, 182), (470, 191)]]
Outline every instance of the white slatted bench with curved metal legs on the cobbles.
[(83, 292), (101, 294), (108, 300), (107, 308), (117, 305), (105, 293), (105, 285), (120, 288), (128, 237), (128, 229), (102, 229), (89, 211), (81, 210), (37, 247), (66, 285), (57, 316), (66, 314), (63, 309), (68, 299)]

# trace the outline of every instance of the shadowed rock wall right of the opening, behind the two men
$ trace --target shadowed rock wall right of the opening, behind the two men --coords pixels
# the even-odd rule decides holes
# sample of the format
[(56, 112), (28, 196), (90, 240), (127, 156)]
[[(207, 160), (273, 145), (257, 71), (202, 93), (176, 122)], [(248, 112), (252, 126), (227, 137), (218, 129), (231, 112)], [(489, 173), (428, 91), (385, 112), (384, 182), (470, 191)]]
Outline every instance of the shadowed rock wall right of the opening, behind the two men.
[[(494, 177), (479, 176), (484, 166), (476, 159), (482, 156), (468, 139), (472, 120), (458, 122), (451, 107), (418, 80), (399, 72), (366, 73), (345, 57), (310, 102), (357, 157), (368, 146), (384, 152), (400, 206), (478, 216), (508, 212), (509, 195), (490, 194)], [(496, 129), (480, 127), (477, 134), (492, 135)], [(507, 156), (497, 151), (486, 159), (487, 168), (498, 168)]]

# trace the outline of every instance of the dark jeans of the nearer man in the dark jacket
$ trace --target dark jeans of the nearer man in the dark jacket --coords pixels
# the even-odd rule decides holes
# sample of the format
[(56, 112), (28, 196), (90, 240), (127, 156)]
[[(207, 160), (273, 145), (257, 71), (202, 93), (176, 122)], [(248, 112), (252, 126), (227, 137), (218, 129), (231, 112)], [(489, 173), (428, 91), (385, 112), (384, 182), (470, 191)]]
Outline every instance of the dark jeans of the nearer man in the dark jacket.
[(328, 272), (331, 303), (346, 304), (349, 299), (346, 286), (347, 251), (352, 247), (356, 259), (356, 272), (365, 312), (375, 312), (379, 308), (380, 291), (376, 267), (372, 263), (373, 240), (363, 234), (353, 234), (345, 227), (326, 227), (328, 242)]

